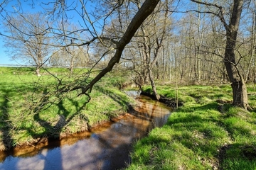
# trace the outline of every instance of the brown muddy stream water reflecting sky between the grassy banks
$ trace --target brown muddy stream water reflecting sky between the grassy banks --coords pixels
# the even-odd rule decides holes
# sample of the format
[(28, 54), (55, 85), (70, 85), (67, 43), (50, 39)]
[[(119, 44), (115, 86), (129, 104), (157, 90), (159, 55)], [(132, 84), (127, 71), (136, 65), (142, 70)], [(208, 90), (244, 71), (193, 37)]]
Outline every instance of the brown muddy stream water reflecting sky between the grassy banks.
[[(34, 145), (2, 155), (2, 169), (120, 169), (129, 164), (132, 142), (166, 123), (170, 109), (146, 96), (131, 113), (91, 132)], [(4, 157), (4, 158), (3, 158)]]

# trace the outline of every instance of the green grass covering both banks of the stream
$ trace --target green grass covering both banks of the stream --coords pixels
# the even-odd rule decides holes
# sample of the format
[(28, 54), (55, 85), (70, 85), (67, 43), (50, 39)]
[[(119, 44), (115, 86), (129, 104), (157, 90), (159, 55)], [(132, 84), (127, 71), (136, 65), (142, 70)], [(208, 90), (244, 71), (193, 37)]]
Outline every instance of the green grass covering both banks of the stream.
[[(63, 84), (74, 85), (75, 76), (86, 71), (50, 69)], [(88, 98), (78, 97), (80, 91), (55, 94), (58, 81), (46, 70), (42, 74), (36, 77), (33, 68), (0, 67), (0, 149), (87, 130), (122, 113), (132, 102), (118, 90), (126, 81), (122, 76), (102, 79), (85, 104)], [(256, 169), (255, 86), (247, 89), (252, 111), (231, 106), (230, 85), (158, 86), (159, 94), (178, 99), (183, 106), (166, 125), (136, 142), (127, 169)], [(151, 93), (151, 88), (144, 86), (144, 91)], [(46, 103), (38, 103), (43, 96)]]

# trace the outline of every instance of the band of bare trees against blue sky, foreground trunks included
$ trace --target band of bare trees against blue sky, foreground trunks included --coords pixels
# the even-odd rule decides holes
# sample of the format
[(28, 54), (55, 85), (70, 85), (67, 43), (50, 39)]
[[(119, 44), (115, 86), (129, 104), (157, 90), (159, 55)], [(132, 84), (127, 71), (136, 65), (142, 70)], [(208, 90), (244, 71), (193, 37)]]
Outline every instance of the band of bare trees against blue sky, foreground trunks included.
[(133, 70), (139, 86), (150, 83), (157, 99), (156, 80), (230, 83), (233, 103), (249, 107), (245, 83), (256, 79), (255, 0), (49, 1), (36, 13), (11, 13), (5, 5), (1, 35), (10, 56), (36, 64), (38, 75), (46, 64), (70, 72), (103, 68), (91, 84), (64, 91), (86, 93), (115, 65), (120, 72)]

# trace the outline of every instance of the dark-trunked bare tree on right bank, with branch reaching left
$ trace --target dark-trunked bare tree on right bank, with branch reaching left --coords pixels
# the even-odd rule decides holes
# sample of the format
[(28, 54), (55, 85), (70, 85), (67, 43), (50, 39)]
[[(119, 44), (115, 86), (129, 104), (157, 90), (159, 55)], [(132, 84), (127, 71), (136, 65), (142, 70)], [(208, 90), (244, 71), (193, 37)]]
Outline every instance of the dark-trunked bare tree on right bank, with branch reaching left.
[[(248, 99), (247, 99), (247, 89), (245, 84), (245, 79), (242, 77), (240, 70), (238, 69), (238, 62), (236, 61), (235, 51), (237, 45), (237, 38), (238, 38), (238, 29), (240, 18), (242, 14), (243, 8), (243, 0), (234, 0), (232, 6), (230, 6), (230, 21), (229, 23), (226, 21), (225, 18), (225, 11), (223, 6), (219, 6), (218, 4), (211, 4), (202, 1), (196, 1), (198, 4), (203, 4), (206, 6), (214, 7), (218, 9), (218, 13), (214, 13), (212, 11), (208, 11), (218, 18), (220, 18), (221, 23), (226, 31), (226, 45), (225, 45), (225, 55), (223, 58), (223, 62), (225, 64), (225, 69), (228, 73), (228, 78), (231, 83), (231, 87), (233, 89), (233, 105), (240, 106), (242, 108), (247, 109), (248, 106)], [(199, 11), (200, 12), (200, 11)]]

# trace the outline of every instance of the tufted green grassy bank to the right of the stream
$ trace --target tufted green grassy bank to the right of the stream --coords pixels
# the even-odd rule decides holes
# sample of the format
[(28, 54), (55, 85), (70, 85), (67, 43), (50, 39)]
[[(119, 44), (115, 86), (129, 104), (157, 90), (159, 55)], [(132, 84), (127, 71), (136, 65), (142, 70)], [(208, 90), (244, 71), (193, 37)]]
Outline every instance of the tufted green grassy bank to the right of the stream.
[[(169, 98), (178, 92), (184, 106), (137, 141), (127, 169), (256, 169), (256, 113), (231, 106), (230, 85), (174, 89), (158, 90)], [(248, 91), (256, 108), (254, 86)]]

